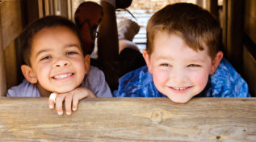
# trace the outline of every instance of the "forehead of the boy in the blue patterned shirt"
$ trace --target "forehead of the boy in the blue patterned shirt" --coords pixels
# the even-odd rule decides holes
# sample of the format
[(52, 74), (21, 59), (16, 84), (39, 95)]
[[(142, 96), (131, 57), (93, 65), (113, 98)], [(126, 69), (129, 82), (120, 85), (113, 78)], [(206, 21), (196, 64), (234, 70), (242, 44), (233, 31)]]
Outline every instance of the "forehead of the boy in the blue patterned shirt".
[(159, 58), (204, 59), (209, 58), (208, 49), (195, 51), (178, 34), (157, 33), (153, 40), (153, 54)]

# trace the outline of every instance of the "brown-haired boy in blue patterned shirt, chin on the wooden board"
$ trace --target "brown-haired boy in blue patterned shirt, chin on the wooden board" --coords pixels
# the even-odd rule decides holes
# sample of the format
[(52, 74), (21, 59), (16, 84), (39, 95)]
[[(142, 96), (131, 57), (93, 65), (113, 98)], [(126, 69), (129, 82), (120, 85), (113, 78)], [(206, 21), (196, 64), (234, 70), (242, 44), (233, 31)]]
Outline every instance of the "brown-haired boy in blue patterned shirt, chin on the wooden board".
[(147, 66), (120, 78), (114, 96), (162, 97), (186, 103), (193, 96), (249, 97), (246, 82), (223, 59), (220, 23), (207, 10), (176, 3), (147, 25)]

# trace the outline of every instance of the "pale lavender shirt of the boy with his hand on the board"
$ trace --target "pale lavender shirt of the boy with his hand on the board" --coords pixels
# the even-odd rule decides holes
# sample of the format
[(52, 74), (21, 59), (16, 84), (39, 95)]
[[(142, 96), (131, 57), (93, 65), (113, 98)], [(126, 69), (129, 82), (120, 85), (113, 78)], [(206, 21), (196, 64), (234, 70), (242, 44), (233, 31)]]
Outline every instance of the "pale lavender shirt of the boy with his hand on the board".
[[(107, 85), (103, 71), (97, 67), (90, 66), (90, 70), (83, 79), (82, 87), (86, 87), (97, 95), (97, 97), (112, 97), (110, 88)], [(18, 86), (11, 87), (6, 94), (7, 97), (40, 97), (36, 84), (29, 83), (27, 80)]]

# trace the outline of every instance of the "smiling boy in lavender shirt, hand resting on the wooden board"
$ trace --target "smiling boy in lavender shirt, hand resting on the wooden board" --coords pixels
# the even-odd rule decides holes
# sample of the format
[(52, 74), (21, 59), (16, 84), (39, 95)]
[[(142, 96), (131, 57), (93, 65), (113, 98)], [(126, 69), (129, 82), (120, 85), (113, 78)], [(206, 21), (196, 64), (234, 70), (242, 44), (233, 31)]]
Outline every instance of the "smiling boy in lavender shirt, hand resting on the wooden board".
[[(111, 97), (103, 71), (90, 66), (90, 55), (83, 50), (82, 38), (73, 22), (47, 16), (27, 26), (22, 34), (21, 66), (27, 79), (7, 91), (9, 97), (48, 97), (57, 94), (56, 108), (62, 115), (62, 102), (71, 114), (78, 100), (85, 97)], [(54, 102), (49, 101), (54, 108)]]

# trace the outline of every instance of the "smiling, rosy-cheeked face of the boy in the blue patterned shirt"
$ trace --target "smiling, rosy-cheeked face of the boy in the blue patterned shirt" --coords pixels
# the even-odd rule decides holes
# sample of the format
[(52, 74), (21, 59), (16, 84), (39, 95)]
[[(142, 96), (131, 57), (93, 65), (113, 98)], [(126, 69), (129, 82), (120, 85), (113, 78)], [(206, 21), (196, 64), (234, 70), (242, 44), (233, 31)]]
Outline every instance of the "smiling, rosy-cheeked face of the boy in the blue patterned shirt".
[(150, 57), (146, 51), (143, 55), (158, 91), (176, 103), (186, 103), (204, 90), (214, 72), (207, 49), (193, 51), (175, 34), (157, 34), (153, 43)]

